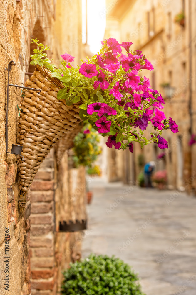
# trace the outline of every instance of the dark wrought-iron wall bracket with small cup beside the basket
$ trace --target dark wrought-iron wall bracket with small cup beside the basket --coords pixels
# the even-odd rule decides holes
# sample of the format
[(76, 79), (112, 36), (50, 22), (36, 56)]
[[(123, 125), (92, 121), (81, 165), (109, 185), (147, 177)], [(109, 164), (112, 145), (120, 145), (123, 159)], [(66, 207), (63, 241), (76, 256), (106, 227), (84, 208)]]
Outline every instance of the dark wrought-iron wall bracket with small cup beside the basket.
[(7, 110), (6, 110), (6, 153), (8, 153), (8, 154), (14, 154), (14, 155), (19, 155), (19, 156), (22, 157), (22, 161), (24, 161), (24, 157), (21, 155), (23, 146), (21, 146), (21, 145), (13, 145), (12, 144), (11, 152), (8, 152), (9, 86), (23, 88), (23, 89), (29, 89), (29, 90), (34, 90), (34, 91), (37, 91), (38, 93), (40, 93), (41, 90), (40, 89), (35, 89), (35, 88), (30, 88), (30, 87), (25, 87), (25, 86), (20, 86), (20, 85), (9, 84), (9, 72), (11, 71), (12, 65), (16, 65), (16, 63), (15, 63), (14, 60), (11, 60), (8, 63), (7, 69), (5, 68), (5, 70), (8, 71), (8, 75), (7, 75)]

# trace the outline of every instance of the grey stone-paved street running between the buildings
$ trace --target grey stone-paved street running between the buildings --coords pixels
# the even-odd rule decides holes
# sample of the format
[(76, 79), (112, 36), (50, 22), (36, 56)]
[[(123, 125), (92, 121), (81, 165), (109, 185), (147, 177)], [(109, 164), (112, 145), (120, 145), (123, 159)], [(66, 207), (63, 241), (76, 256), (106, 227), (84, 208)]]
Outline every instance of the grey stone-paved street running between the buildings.
[(121, 258), (139, 273), (146, 295), (196, 295), (196, 198), (100, 178), (89, 186), (83, 257)]

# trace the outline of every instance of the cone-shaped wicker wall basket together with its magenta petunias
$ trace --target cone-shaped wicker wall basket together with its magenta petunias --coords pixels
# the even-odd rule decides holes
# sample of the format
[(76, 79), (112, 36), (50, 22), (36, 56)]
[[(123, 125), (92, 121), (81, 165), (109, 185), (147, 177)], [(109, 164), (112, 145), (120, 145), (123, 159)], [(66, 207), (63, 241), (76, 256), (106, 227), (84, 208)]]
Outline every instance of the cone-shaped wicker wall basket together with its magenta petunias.
[[(139, 76), (153, 66), (141, 51), (130, 50), (131, 42), (104, 40), (100, 53), (77, 68), (70, 64), (73, 57), (69, 54), (62, 55), (61, 67), (56, 68), (46, 56), (48, 47), (33, 42), (38, 46), (31, 55), (36, 70), (26, 86), (41, 89), (41, 93), (25, 91), (20, 105), (17, 142), (23, 145), (25, 158), (18, 161), (21, 199), (50, 149), (81, 120), (109, 136), (109, 148), (114, 145), (133, 152), (133, 142), (141, 148), (153, 142), (168, 148), (161, 134), (167, 129), (178, 132), (178, 126), (172, 118), (166, 119), (164, 100), (150, 88), (149, 79)], [(148, 125), (154, 131), (146, 138), (143, 133)]]

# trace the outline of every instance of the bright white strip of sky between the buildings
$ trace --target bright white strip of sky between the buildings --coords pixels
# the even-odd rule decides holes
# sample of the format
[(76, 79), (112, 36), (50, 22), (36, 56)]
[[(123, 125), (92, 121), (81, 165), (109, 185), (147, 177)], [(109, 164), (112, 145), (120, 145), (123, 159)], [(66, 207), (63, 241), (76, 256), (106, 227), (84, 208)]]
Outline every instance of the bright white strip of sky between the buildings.
[[(86, 42), (86, 0), (82, 0), (83, 43)], [(92, 53), (96, 54), (100, 48), (100, 41), (105, 33), (105, 0), (87, 0), (88, 40)]]

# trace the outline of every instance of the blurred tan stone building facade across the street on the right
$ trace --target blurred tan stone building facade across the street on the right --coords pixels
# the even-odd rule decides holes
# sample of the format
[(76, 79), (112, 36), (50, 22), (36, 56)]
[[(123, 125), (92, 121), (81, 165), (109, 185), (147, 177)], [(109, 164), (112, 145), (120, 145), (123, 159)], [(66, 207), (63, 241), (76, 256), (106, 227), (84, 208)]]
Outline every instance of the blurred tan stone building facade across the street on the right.
[[(164, 150), (165, 160), (157, 159), (163, 150), (153, 144), (143, 150), (134, 144), (133, 155), (120, 155), (123, 163), (129, 163), (129, 167), (123, 165), (126, 171), (121, 170), (125, 182), (136, 181), (144, 163), (153, 160), (156, 170), (167, 170), (168, 188), (195, 192), (196, 145), (188, 144), (196, 133), (195, 11), (193, 0), (106, 1), (105, 38), (131, 41), (131, 48), (142, 50), (154, 67), (142, 75), (150, 78), (152, 88), (165, 99), (166, 117), (179, 125), (178, 133), (163, 132), (169, 146)], [(181, 18), (178, 22), (177, 17)]]

